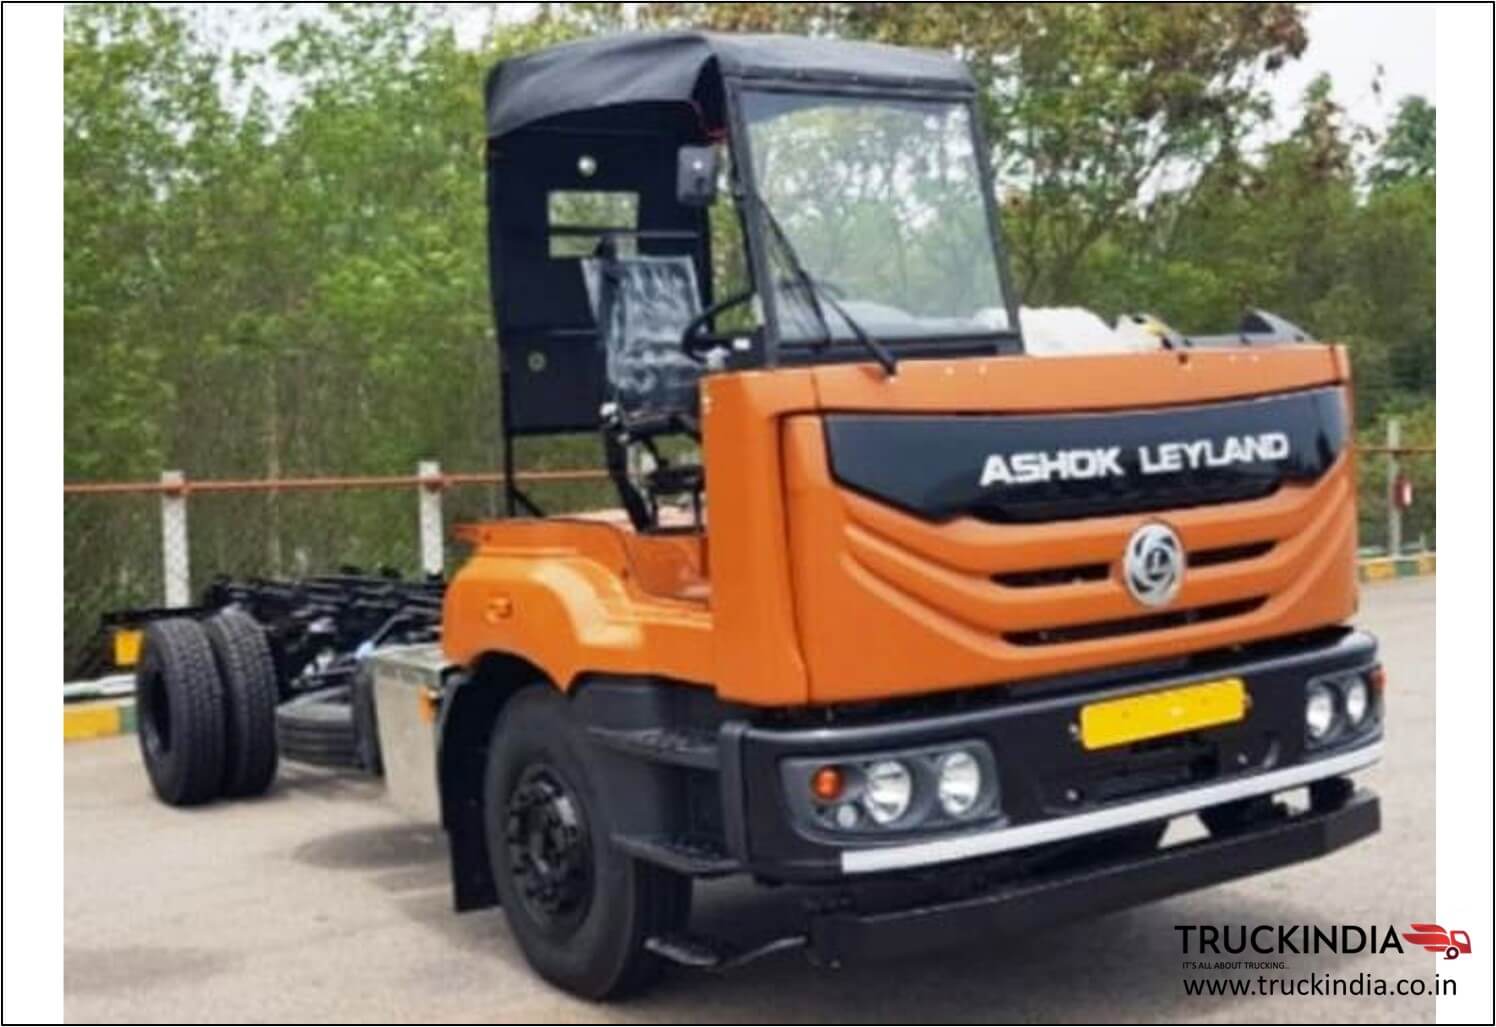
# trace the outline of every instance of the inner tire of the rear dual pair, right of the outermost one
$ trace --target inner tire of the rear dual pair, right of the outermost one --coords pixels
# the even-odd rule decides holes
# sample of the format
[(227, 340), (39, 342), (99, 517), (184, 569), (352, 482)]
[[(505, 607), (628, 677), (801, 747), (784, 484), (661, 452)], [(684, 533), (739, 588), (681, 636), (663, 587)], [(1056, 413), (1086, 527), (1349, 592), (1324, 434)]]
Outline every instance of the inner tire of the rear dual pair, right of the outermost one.
[(263, 795), (275, 780), (275, 657), (265, 629), (241, 609), (220, 611), (203, 630), (223, 683), (223, 795)]

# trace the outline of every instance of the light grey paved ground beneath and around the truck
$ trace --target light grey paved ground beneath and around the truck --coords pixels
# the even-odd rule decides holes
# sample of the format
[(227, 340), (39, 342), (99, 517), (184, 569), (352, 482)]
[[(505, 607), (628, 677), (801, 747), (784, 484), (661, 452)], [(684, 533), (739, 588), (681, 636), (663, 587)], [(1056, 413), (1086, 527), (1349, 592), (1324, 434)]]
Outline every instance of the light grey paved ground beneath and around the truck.
[[(1318, 864), (1055, 928), (962, 939), (919, 961), (841, 972), (781, 955), (735, 975), (672, 973), (595, 1008), (528, 973), (501, 912), (456, 916), (438, 831), (377, 786), (289, 771), (272, 795), (180, 813), (148, 795), (133, 738), (66, 750), (70, 1021), (1432, 1021), (1420, 999), (1186, 997), (1176, 924), (1406, 924), (1433, 910), (1433, 582), (1364, 593), (1390, 677), (1387, 761), (1363, 778), (1384, 831)], [(782, 897), (705, 889), (703, 919)], [(1432, 978), (1435, 957), (1288, 957), (1294, 975)], [(1441, 964), (1444, 966), (1444, 964)]]

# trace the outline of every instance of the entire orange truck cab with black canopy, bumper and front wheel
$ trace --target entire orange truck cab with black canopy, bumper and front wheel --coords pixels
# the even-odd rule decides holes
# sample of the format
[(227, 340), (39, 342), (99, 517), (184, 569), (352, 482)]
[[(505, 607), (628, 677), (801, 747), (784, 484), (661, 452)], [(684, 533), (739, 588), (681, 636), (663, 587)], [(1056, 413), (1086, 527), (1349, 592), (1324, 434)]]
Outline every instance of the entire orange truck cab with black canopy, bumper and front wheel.
[[(975, 103), (945, 54), (778, 36), (488, 79), (509, 516), (462, 530), (437, 775), (456, 906), (567, 990), (1022, 933), (1378, 829), (1343, 349), (1258, 316), (1041, 352)], [(562, 436), (616, 508), (522, 481)], [(733, 874), (803, 886), (803, 927), (694, 936)]]

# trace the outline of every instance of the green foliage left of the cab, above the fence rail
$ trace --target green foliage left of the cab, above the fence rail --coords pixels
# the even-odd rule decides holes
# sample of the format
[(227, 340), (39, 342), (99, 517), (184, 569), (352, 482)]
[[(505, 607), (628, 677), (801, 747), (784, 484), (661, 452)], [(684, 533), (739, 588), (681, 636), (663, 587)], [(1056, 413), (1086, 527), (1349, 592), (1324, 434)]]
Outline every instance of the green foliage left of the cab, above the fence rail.
[[(407, 6), (334, 6), (269, 52), (180, 12), (70, 9), (69, 479), (494, 464), (482, 52)], [(298, 85), (242, 111), (253, 70)], [(263, 76), (262, 76), (263, 78)]]

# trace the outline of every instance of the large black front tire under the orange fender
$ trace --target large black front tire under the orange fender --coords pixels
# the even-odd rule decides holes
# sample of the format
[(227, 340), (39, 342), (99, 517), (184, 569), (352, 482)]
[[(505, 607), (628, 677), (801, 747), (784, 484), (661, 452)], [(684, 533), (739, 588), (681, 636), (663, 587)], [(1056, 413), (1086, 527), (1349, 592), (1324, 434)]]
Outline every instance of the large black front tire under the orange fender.
[(536, 972), (585, 999), (655, 981), (652, 936), (684, 930), (691, 880), (612, 843), (588, 743), (549, 684), (512, 698), (494, 729), (483, 789), (494, 883)]

